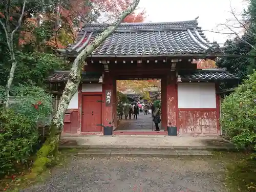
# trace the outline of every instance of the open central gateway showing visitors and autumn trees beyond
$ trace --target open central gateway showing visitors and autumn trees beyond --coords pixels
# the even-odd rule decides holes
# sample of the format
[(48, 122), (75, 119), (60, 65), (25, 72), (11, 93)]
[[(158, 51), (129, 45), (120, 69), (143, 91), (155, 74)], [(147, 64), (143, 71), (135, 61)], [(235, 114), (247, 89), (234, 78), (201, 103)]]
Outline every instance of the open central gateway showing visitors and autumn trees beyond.
[[(114, 133), (129, 134), (145, 132), (159, 134), (165, 131), (162, 127), (162, 93), (161, 78), (129, 79), (116, 81), (116, 119)], [(159, 103), (161, 122), (153, 122), (154, 103)]]

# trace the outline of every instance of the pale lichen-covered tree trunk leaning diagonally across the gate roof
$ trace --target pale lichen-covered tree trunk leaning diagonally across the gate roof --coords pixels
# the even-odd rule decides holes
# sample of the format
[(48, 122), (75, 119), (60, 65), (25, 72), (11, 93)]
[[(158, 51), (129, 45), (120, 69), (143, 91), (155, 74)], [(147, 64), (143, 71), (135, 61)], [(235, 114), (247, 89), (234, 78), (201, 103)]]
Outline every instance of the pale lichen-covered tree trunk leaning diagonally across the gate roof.
[(53, 117), (53, 124), (58, 127), (59, 130), (63, 127), (63, 118), (65, 115), (65, 112), (68, 108), (68, 105), (75, 94), (76, 90), (78, 89), (79, 83), (80, 83), (80, 68), (82, 65), (82, 62), (92, 54), (92, 52), (108, 37), (110, 36), (116, 28), (121, 24), (122, 20), (132, 13), (135, 8), (138, 6), (140, 0), (135, 0), (133, 4), (131, 4), (123, 13), (120, 15), (119, 19), (109, 28), (104, 30), (101, 34), (99, 34), (93, 42), (88, 45), (86, 48), (84, 48), (76, 57), (76, 59), (73, 62), (71, 72), (69, 74), (68, 82), (66, 84), (66, 87), (62, 93), (62, 96), (59, 101), (58, 109)]

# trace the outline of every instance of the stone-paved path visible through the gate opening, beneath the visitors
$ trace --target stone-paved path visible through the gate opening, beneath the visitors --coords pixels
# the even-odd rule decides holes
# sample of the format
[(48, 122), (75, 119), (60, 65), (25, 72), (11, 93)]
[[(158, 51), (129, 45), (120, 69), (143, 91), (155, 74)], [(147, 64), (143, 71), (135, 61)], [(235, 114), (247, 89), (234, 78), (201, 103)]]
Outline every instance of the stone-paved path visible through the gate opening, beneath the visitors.
[[(125, 120), (123, 115), (123, 119), (120, 120), (116, 131), (152, 131), (152, 117), (150, 114), (144, 115), (143, 113), (140, 113), (137, 116), (137, 119), (133, 119), (133, 117), (134, 116), (132, 115), (130, 120), (128, 116), (127, 120)], [(159, 124), (159, 127), (161, 130), (161, 123)], [(155, 130), (155, 124), (153, 125), (153, 129)]]

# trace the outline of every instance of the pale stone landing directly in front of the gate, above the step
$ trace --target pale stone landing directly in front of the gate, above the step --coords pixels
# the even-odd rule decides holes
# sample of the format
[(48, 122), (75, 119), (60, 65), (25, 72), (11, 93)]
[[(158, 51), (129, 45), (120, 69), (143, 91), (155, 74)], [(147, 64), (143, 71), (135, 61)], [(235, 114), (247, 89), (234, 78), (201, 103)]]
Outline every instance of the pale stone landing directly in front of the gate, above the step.
[(222, 137), (192, 136), (64, 136), (62, 140), (75, 141), (80, 146), (133, 148), (232, 148)]

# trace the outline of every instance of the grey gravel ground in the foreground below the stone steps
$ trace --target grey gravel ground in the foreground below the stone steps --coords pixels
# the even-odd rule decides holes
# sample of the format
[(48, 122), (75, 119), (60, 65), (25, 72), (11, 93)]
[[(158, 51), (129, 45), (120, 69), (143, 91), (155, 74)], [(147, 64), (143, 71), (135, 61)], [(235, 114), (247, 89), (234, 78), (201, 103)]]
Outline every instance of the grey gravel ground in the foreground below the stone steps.
[(73, 157), (65, 167), (55, 168), (44, 185), (23, 191), (222, 192), (227, 191), (221, 181), (224, 166), (208, 157)]

